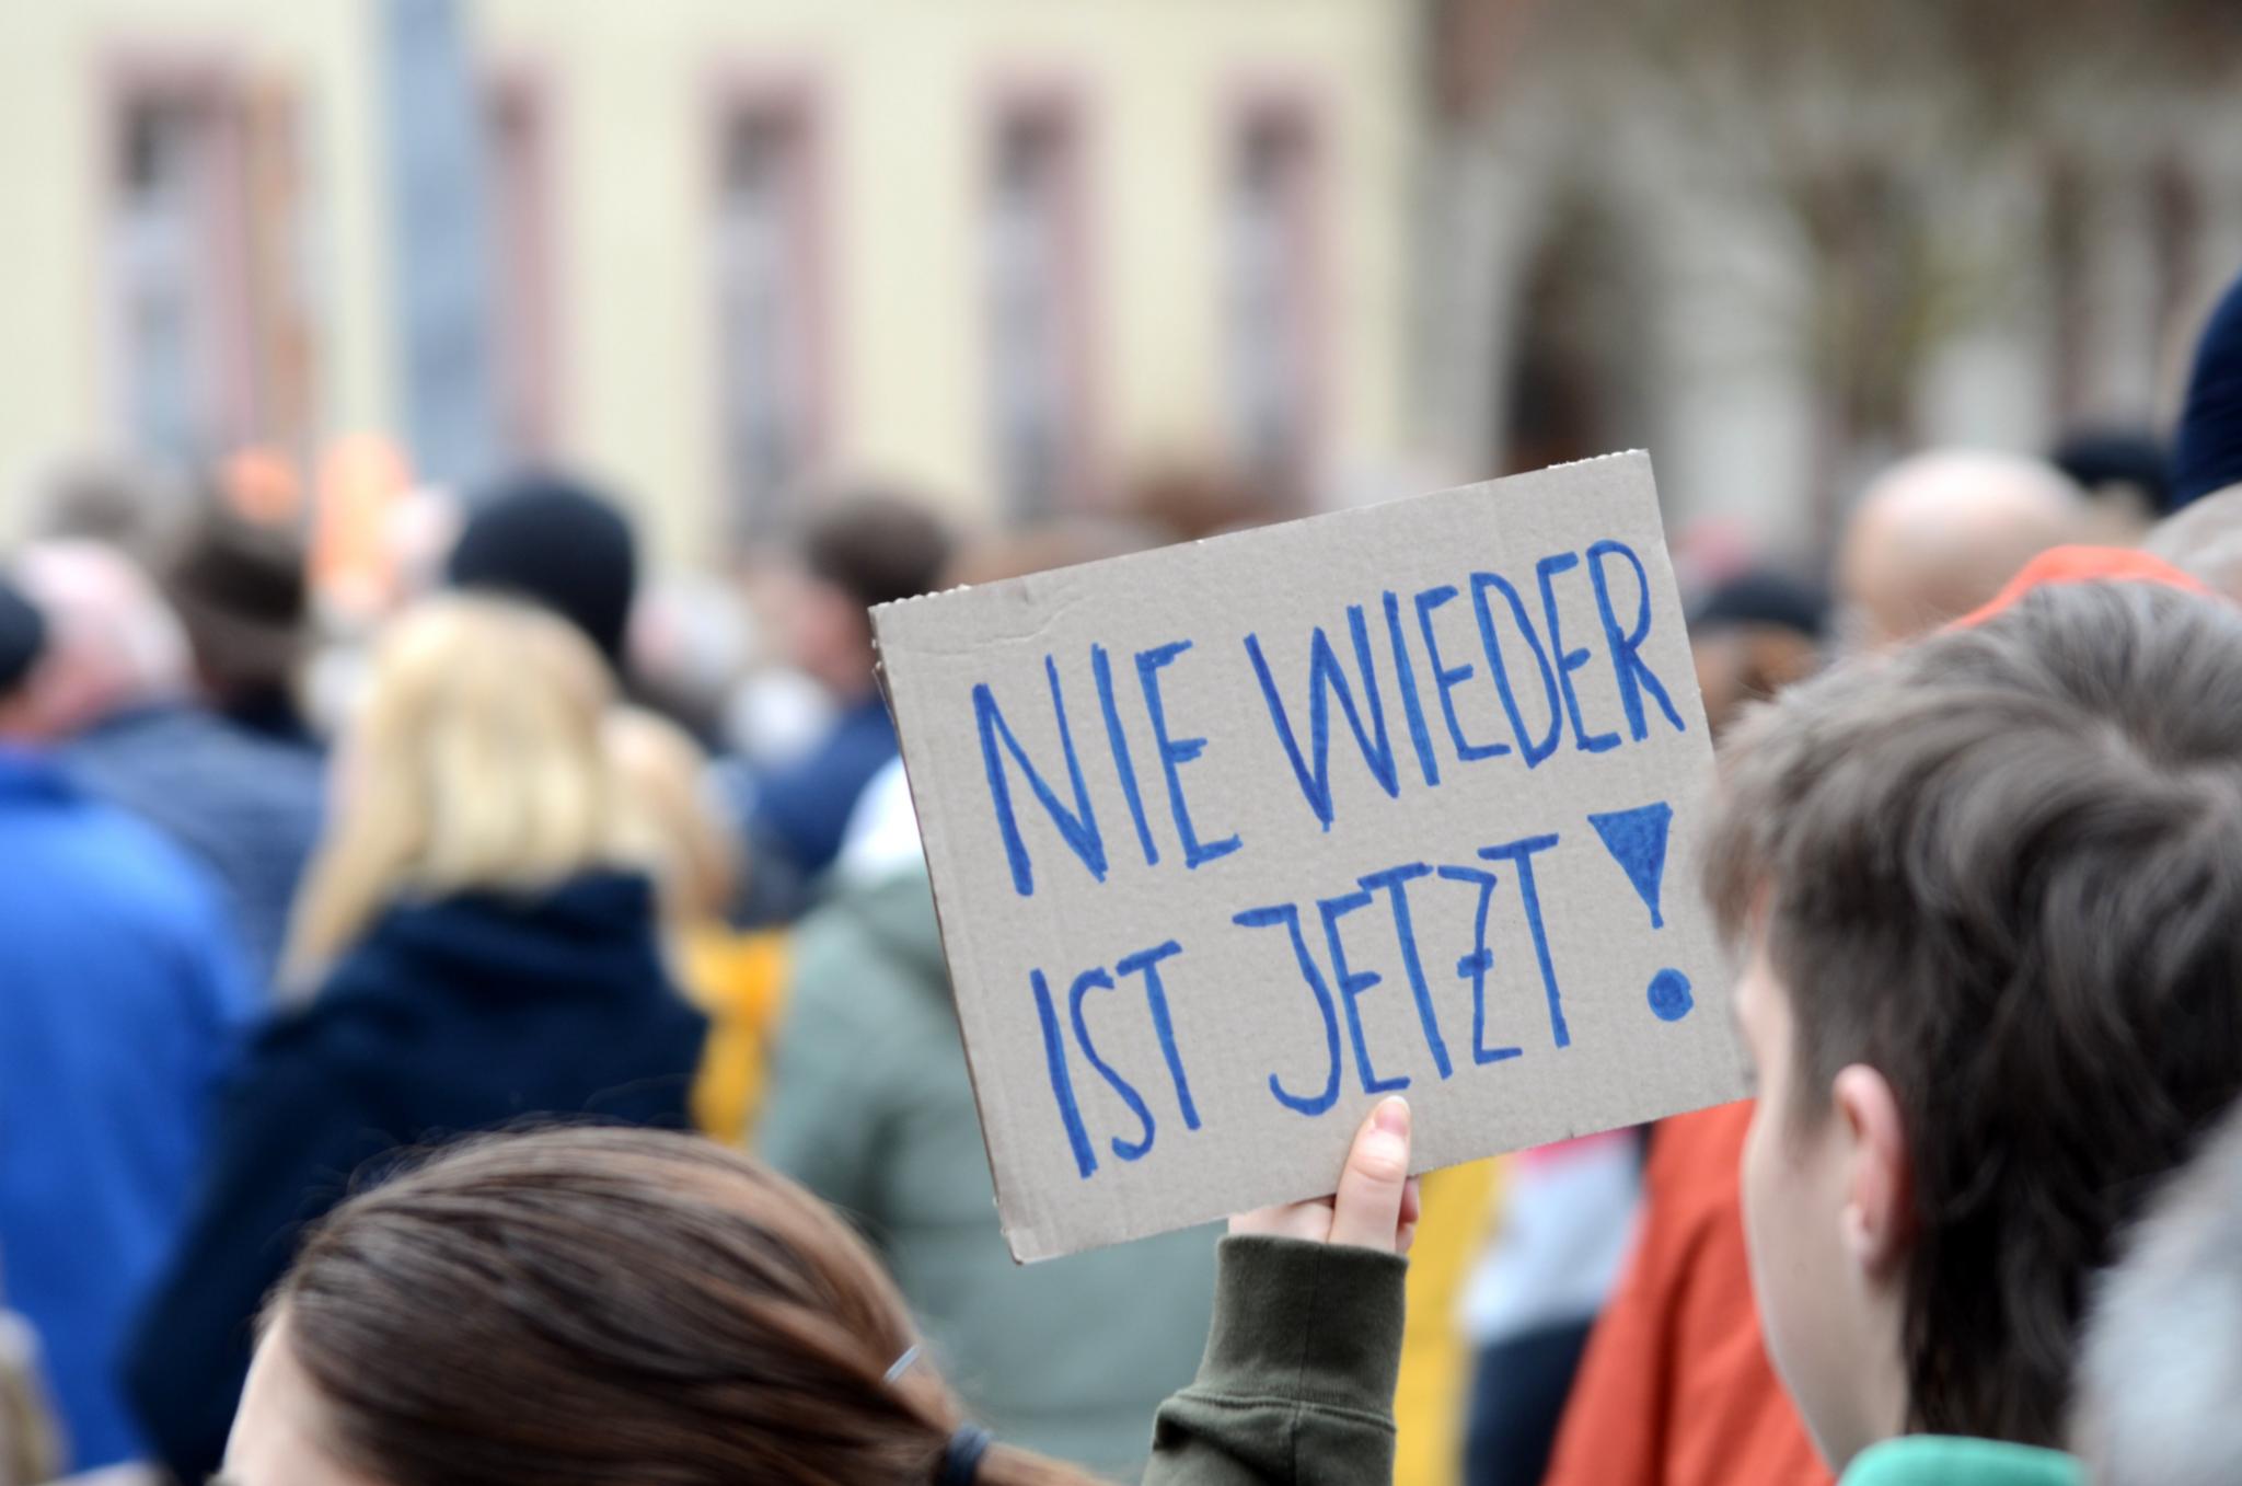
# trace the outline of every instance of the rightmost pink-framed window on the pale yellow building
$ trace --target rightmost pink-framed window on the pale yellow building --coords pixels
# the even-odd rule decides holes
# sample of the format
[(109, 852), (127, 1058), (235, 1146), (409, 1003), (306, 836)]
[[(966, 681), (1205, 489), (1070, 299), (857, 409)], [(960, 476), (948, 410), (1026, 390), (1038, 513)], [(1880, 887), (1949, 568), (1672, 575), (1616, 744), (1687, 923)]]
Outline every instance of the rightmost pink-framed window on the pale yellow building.
[(1305, 108), (1247, 110), (1224, 208), (1238, 446), (1256, 477), (1294, 500), (1305, 493), (1316, 435), (1316, 155)]

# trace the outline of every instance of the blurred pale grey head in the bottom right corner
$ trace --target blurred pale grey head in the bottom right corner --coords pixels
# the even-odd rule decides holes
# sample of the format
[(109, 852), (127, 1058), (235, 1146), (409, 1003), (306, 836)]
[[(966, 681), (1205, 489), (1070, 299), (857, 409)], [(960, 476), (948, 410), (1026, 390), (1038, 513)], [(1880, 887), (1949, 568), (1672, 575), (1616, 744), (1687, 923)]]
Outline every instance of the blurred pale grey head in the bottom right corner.
[(2094, 1486), (2242, 1482), (2242, 1112), (2164, 1188), (2094, 1293), (2074, 1448)]

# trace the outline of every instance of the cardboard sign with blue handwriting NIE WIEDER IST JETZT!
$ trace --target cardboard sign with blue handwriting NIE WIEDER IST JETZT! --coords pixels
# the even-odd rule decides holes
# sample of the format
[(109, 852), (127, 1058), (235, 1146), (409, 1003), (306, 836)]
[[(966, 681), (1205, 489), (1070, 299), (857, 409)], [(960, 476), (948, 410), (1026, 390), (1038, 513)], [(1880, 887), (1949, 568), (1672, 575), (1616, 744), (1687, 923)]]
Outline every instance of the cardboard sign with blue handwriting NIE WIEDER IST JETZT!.
[(1648, 455), (872, 619), (1016, 1257), (1744, 1092)]

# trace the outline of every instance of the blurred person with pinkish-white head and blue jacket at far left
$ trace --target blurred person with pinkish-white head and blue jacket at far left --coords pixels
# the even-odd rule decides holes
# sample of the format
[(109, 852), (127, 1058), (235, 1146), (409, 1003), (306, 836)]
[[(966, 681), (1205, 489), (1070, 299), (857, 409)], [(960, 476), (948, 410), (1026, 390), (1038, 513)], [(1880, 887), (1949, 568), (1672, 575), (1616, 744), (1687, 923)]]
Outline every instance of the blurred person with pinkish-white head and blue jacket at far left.
[(34, 542), (16, 574), (52, 623), (22, 697), (22, 733), (52, 744), (90, 793), (209, 867), (269, 984), (289, 903), (318, 836), (325, 769), (193, 697), (193, 654), (155, 583), (114, 547)]

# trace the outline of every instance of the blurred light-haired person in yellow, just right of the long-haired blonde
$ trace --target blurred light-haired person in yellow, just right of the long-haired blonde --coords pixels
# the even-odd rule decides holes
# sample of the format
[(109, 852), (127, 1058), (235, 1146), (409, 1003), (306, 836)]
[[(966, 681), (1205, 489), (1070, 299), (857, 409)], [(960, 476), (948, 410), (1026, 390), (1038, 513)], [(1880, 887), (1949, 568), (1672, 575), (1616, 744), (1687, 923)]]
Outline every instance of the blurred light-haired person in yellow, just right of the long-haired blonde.
[(724, 919), (740, 892), (740, 838), (729, 829), (700, 744), (666, 717), (617, 708), (608, 717), (608, 751), (652, 849), (670, 964), (708, 1018), (693, 1123), (738, 1145), (762, 1105), (787, 988), (787, 935), (738, 930)]

